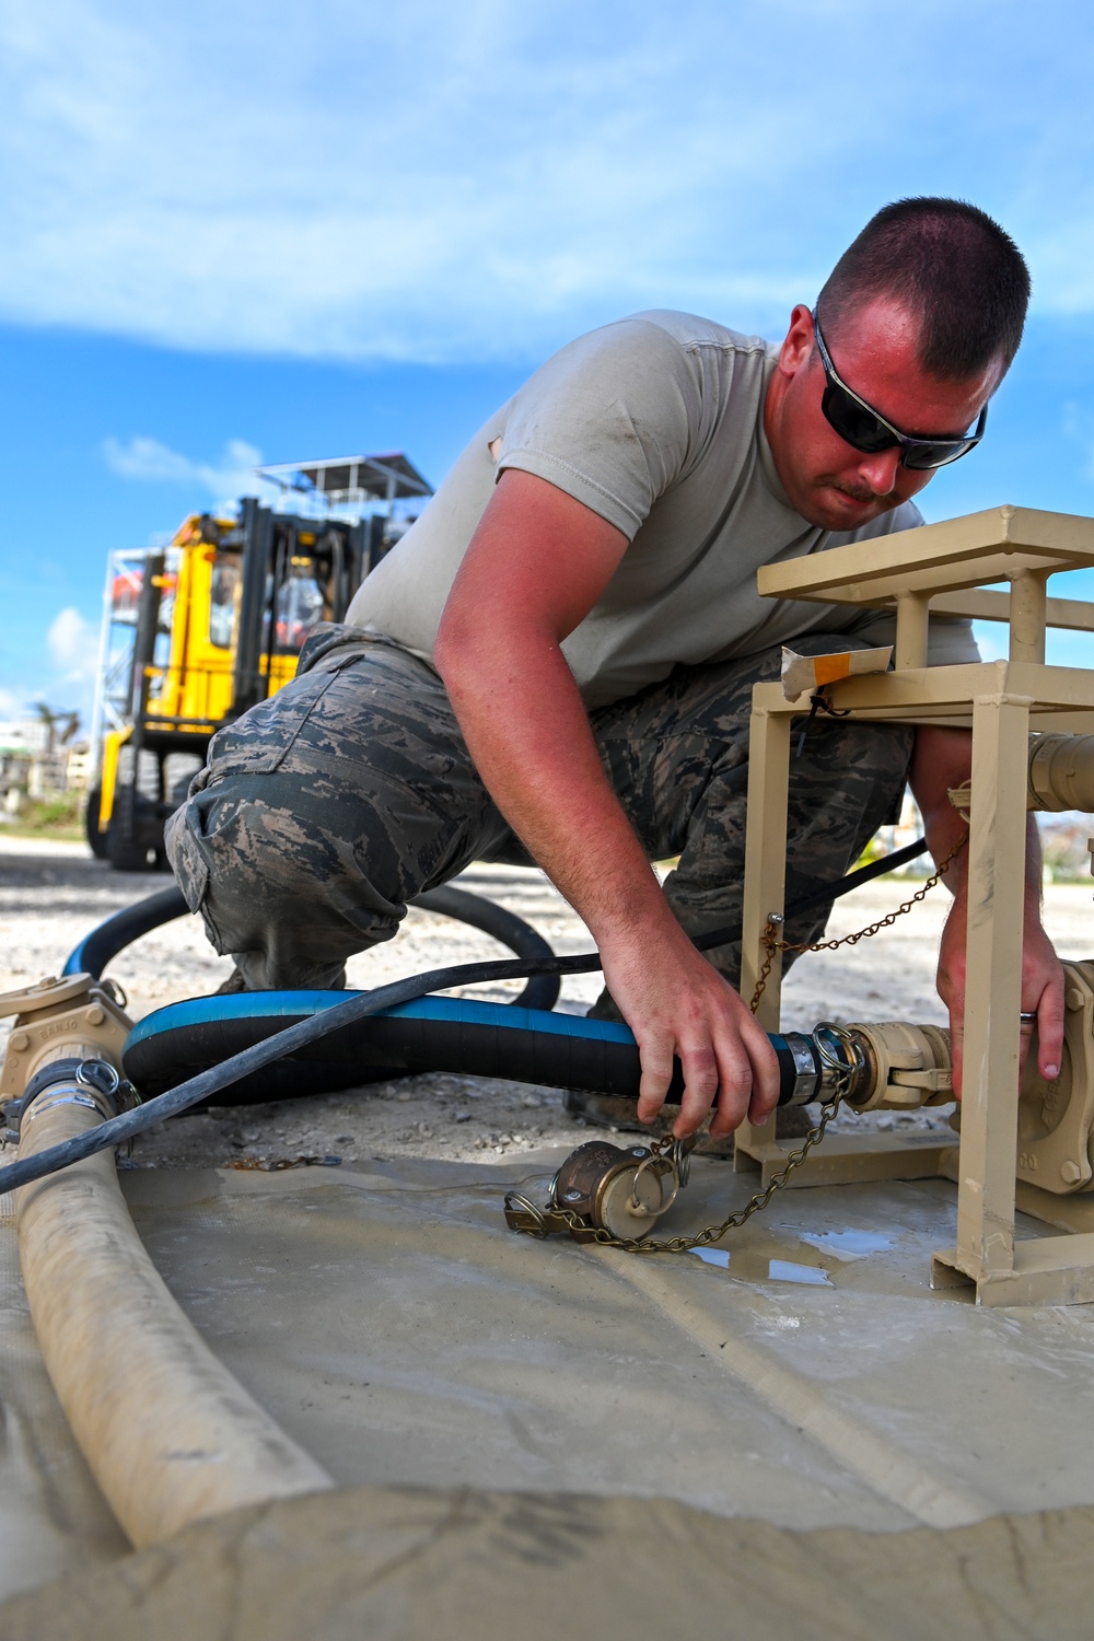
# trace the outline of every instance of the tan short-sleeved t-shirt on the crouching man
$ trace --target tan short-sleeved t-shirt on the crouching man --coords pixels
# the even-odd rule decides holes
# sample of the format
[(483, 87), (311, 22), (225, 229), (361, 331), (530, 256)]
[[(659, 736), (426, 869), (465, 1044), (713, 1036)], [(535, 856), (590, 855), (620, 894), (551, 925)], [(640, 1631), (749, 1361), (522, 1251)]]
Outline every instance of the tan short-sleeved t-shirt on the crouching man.
[[(630, 546), (563, 651), (587, 706), (805, 632), (892, 642), (892, 619), (763, 599), (761, 565), (922, 523), (912, 502), (859, 530), (820, 530), (779, 482), (763, 430), (777, 348), (692, 313), (635, 313), (569, 343), (485, 422), (346, 620), (426, 661), (499, 473), (548, 479)], [(500, 443), (499, 443), (500, 441)], [(497, 459), (495, 459), (497, 458)], [(932, 620), (932, 665), (978, 660), (968, 622)]]

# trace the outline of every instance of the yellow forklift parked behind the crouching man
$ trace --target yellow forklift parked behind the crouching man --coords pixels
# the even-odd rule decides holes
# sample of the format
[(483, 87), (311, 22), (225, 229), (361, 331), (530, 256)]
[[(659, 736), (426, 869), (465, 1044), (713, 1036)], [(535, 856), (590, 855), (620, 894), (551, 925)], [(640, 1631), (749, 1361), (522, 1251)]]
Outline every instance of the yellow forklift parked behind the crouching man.
[[(164, 822), (217, 730), (287, 684), (308, 632), (341, 620), (431, 487), (402, 455), (261, 469), (338, 507), (303, 515), (254, 497), (238, 519), (192, 514), (171, 542), (112, 555), (87, 839), (118, 871), (164, 866)], [(358, 512), (369, 502), (385, 512)], [(118, 653), (110, 633), (128, 629)], [(113, 694), (112, 694), (113, 679)]]

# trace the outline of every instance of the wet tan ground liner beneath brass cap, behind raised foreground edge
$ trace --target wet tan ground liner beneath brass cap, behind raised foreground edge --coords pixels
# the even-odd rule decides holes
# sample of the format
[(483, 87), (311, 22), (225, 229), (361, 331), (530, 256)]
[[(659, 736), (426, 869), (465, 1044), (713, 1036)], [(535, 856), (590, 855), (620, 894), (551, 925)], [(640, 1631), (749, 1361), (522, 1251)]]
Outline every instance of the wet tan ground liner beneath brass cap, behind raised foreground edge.
[[(715, 1250), (725, 1264), (650, 1260), (505, 1229), (505, 1188), (543, 1188), (558, 1160), (130, 1170), (123, 1186), (212, 1349), (341, 1488), (627, 1495), (900, 1539), (1094, 1502), (1076, 1441), (1094, 1314), (932, 1293), (946, 1182), (786, 1193)], [(699, 1162), (672, 1227), (750, 1188)], [(125, 1546), (36, 1357), (10, 1218), (0, 1278), (15, 1595)]]

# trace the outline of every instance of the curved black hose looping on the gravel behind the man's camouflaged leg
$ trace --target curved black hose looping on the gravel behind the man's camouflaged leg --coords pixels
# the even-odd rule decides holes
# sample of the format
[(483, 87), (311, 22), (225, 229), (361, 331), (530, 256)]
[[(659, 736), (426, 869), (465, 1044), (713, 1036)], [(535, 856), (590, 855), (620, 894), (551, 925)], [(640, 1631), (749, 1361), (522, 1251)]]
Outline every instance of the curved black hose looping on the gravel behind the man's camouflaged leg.
[[(482, 934), (489, 934), (494, 940), (507, 945), (517, 957), (554, 957), (553, 948), (541, 934), (536, 934), (531, 924), (526, 924), (523, 917), (517, 917), (515, 912), (505, 911), (495, 901), (484, 899), (481, 894), (467, 894), (466, 889), (446, 884), (441, 889), (426, 889), (425, 894), (418, 894), (410, 904), (426, 912), (440, 912), (441, 917), (454, 917), (472, 929), (481, 929)], [(182, 889), (179, 888), (161, 889), (157, 894), (149, 894), (134, 906), (125, 906), (80, 940), (61, 973), (92, 975), (98, 980), (107, 963), (118, 952), (123, 952), (126, 945), (139, 940), (144, 934), (151, 934), (153, 929), (182, 917), (189, 911), (190, 907), (182, 899)], [(513, 998), (513, 1003), (525, 1009), (553, 1009), (558, 1003), (559, 986), (561, 981), (554, 973), (533, 975), (523, 991)]]

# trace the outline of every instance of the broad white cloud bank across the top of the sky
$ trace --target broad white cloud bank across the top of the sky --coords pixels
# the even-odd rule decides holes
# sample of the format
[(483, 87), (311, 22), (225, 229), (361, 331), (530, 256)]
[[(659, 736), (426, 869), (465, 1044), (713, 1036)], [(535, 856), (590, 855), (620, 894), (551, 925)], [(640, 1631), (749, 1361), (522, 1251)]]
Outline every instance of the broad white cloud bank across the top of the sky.
[(1078, 0), (1042, 33), (1019, 0), (879, 30), (871, 0), (317, 0), (307, 26), (295, 0), (8, 0), (0, 315), (407, 359), (658, 304), (769, 327), (925, 190), (1014, 218), (1042, 300), (1094, 307)]

